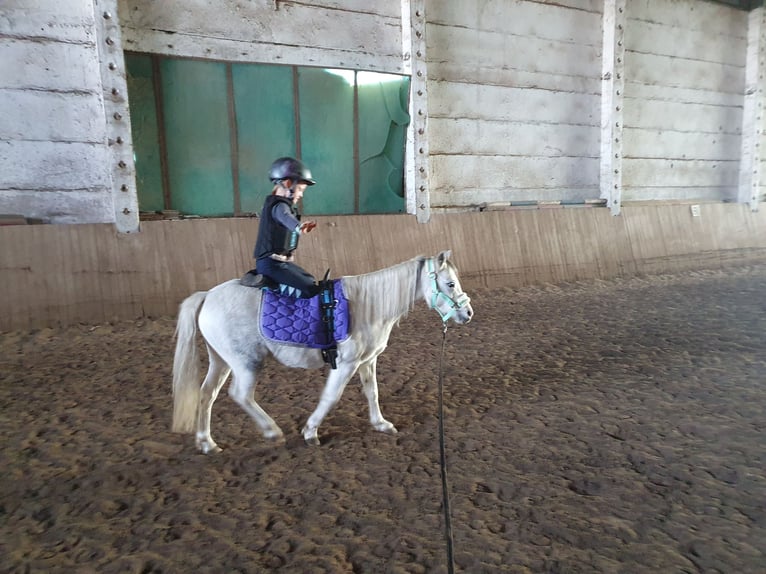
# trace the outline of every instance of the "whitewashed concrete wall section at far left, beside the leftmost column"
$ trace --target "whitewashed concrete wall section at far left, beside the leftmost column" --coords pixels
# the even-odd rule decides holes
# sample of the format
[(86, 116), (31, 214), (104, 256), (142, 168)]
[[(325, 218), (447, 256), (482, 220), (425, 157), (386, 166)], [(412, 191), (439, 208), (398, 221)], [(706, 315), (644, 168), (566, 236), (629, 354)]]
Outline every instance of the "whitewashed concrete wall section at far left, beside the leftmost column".
[(1, 10), (0, 213), (114, 221), (92, 2)]

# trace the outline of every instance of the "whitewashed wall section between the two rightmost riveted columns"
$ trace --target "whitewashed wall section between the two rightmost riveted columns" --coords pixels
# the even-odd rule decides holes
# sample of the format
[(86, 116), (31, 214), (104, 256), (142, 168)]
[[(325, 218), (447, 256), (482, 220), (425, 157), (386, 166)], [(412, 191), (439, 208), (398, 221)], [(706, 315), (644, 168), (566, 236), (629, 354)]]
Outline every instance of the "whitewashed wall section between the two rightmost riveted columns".
[(736, 201), (748, 13), (627, 3), (623, 202)]

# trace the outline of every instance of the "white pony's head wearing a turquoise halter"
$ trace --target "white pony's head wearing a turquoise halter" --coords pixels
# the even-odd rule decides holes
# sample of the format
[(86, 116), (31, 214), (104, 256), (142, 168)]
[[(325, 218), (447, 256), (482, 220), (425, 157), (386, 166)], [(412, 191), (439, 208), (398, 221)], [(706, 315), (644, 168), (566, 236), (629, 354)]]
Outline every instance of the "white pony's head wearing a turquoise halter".
[(436, 309), (442, 321), (452, 319), (465, 325), (473, 317), (471, 298), (460, 287), (457, 268), (449, 260), (452, 251), (442, 251), (436, 257), (425, 260), (426, 280), (423, 281), (423, 297), (428, 306)]

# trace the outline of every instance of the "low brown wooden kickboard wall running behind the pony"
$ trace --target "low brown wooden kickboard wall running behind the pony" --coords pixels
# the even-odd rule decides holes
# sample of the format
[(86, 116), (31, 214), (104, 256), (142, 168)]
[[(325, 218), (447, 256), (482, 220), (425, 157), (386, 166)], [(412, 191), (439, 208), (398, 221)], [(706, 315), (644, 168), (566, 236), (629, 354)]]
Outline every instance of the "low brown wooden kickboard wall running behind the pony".
[[(766, 211), (703, 204), (316, 218), (300, 262), (364, 273), (451, 248), (466, 288), (720, 268), (766, 261)], [(0, 330), (174, 315), (252, 264), (255, 219), (0, 227)], [(480, 310), (477, 309), (477, 312)]]

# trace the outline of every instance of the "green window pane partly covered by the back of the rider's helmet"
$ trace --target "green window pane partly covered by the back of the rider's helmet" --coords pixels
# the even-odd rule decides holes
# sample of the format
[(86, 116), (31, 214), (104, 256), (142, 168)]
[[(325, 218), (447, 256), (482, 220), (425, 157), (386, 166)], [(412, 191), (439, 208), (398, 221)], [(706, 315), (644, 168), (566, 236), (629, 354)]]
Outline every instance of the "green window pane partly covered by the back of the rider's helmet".
[(260, 213), (271, 193), (269, 166), (295, 156), (293, 70), (290, 66), (232, 65), (237, 113), (240, 205)]

